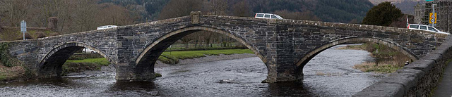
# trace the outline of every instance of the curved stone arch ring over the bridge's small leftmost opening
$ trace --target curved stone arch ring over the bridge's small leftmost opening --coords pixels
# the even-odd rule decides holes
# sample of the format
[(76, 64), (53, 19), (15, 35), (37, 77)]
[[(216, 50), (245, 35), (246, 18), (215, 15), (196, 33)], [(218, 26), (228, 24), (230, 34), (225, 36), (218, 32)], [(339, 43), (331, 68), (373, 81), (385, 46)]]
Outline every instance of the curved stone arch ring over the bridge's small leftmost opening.
[(44, 56), (41, 59), (40, 63), (37, 65), (38, 72), (42, 77), (59, 77), (61, 76), (61, 66), (66, 62), (66, 60), (82, 48), (90, 48), (97, 53), (100, 53), (101, 56), (107, 58), (107, 60), (112, 63), (112, 59), (105, 55), (104, 52), (100, 51), (98, 48), (94, 46), (90, 46), (88, 44), (84, 44), (81, 42), (67, 42), (66, 44), (61, 44), (54, 46), (52, 51)]

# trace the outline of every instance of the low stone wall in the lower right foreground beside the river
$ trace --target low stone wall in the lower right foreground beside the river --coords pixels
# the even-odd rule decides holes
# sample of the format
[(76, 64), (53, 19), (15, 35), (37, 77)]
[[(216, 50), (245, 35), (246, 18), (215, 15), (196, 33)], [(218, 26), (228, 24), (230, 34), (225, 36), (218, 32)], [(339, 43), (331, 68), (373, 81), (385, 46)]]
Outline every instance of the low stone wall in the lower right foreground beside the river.
[(448, 36), (445, 43), (432, 53), (397, 70), (354, 96), (430, 96), (450, 60), (452, 60), (452, 36)]

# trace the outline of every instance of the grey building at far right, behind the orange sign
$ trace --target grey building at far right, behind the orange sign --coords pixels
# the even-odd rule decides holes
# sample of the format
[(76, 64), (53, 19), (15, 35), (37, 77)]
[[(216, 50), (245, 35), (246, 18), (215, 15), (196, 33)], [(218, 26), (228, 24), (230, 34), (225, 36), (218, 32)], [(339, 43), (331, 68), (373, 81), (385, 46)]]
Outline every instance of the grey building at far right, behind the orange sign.
[(436, 25), (435, 27), (443, 32), (452, 32), (452, 1), (436, 0), (428, 1), (415, 6), (415, 22), (422, 25), (429, 25), (429, 13), (432, 13), (432, 4), (436, 4)]

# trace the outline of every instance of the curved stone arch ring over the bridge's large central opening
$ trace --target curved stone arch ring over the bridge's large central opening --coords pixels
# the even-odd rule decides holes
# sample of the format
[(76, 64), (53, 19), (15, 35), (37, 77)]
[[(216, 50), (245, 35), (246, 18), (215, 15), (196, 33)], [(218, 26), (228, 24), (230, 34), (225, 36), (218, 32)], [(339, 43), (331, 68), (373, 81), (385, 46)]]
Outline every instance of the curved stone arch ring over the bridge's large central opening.
[[(153, 64), (155, 63), (155, 61), (157, 61), (158, 56), (160, 56), (160, 54), (163, 51), (165, 51), (166, 48), (168, 48), (171, 44), (174, 44), (175, 41), (181, 39), (182, 37), (185, 37), (188, 34), (198, 32), (198, 31), (203, 31), (203, 30), (209, 31), (209, 32), (217, 32), (220, 34), (224, 34), (228, 37), (231, 37), (231, 38), (239, 41), (240, 43), (244, 44), (247, 48), (251, 49), (251, 51), (253, 51), (254, 54), (256, 54), (256, 56), (261, 58), (263, 63), (267, 62), (266, 58), (263, 57), (262, 54), (259, 51), (257, 51), (256, 48), (254, 48), (254, 46), (252, 46), (252, 44), (245, 41), (245, 39), (242, 39), (242, 37), (240, 37), (238, 34), (234, 34), (232, 32), (227, 32), (224, 30), (218, 30), (218, 29), (215, 29), (212, 27), (195, 26), (195, 27), (184, 27), (182, 29), (169, 32), (169, 33), (163, 35), (162, 37), (159, 37), (159, 38), (153, 40), (153, 43), (148, 44), (146, 46), (146, 48), (143, 49), (143, 51), (141, 51), (141, 53), (136, 58), (136, 61), (135, 61), (136, 69), (153, 70)], [(151, 67), (146, 68), (147, 67), (146, 65), (149, 65)], [(143, 67), (141, 67), (141, 66), (143, 66)]]

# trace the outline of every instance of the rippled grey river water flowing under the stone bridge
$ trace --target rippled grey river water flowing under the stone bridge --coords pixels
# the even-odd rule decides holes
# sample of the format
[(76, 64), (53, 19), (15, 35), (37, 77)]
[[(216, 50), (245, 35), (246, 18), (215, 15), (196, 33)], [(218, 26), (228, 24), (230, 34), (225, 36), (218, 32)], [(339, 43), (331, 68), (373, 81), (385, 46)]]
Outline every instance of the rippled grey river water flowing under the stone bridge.
[[(340, 45), (343, 46), (343, 45)], [(153, 82), (116, 82), (114, 72), (0, 84), (0, 96), (351, 96), (385, 75), (353, 65), (367, 51), (323, 51), (304, 67), (302, 83), (261, 83), (267, 70), (257, 58), (156, 67)]]

